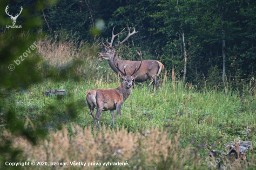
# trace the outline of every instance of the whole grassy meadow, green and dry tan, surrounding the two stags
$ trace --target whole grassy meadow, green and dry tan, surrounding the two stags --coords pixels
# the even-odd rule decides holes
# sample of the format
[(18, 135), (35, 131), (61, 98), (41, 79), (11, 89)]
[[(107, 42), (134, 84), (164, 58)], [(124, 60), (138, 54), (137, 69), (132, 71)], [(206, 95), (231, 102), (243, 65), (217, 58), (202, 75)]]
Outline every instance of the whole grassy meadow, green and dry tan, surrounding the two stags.
[[(229, 81), (223, 88), (183, 83), (177, 71), (164, 70), (159, 75), (160, 88), (153, 89), (150, 81), (138, 83), (121, 106), (121, 119), (116, 115), (115, 127), (109, 111), (101, 114), (101, 126), (95, 127), (86, 102), (86, 91), (116, 88), (121, 78), (111, 70), (107, 60), (97, 54), (103, 50), (94, 44), (75, 39), (59, 41), (44, 38), (37, 41), (41, 61), (37, 68), (45, 77), (28, 89), (1, 88), (1, 106), (5, 112), (15, 110), (17, 119), (30, 131), (42, 130), (47, 136), (35, 144), (1, 126), (0, 145), (12, 141), (11, 148), (19, 150), (16, 161), (87, 162), (95, 166), (51, 166), (52, 169), (133, 169), (133, 170), (199, 170), (217, 169), (210, 150), (225, 150), (223, 144), (256, 139), (256, 82), (244, 85), (243, 92), (231, 89)], [(120, 51), (135, 60), (135, 50), (126, 46)], [(125, 54), (121, 57), (125, 58)], [(148, 59), (147, 52), (142, 58)], [(47, 78), (51, 68), (62, 71), (74, 61), (75, 78)], [(47, 65), (47, 67), (45, 66)], [(69, 73), (67, 73), (69, 74)], [(71, 76), (70, 76), (71, 77)], [(50, 89), (67, 89), (64, 97), (44, 96)], [(116, 114), (116, 111), (115, 111)], [(1, 124), (7, 118), (1, 117)], [(238, 159), (229, 169), (255, 168), (255, 150), (246, 160)], [(2, 162), (11, 155), (1, 156)], [(106, 162), (128, 162), (127, 166), (102, 166)], [(227, 163), (222, 159), (222, 164)], [(250, 165), (250, 166), (249, 166)], [(12, 167), (6, 167), (11, 169)], [(15, 167), (13, 167), (15, 168)], [(49, 169), (45, 166), (20, 167)]]

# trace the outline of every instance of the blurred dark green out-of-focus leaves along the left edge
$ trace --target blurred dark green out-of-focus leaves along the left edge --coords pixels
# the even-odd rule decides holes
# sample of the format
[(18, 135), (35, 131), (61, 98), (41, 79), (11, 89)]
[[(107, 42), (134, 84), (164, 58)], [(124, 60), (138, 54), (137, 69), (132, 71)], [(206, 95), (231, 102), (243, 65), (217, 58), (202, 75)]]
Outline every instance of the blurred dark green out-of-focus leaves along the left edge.
[[(79, 80), (74, 74), (74, 69), (81, 62), (73, 60), (68, 66), (62, 68), (47, 67), (47, 63), (45, 63), (45, 60), (40, 55), (41, 52), (38, 51), (38, 46), (40, 46), (38, 41), (45, 35), (44, 33), (34, 32), (42, 26), (40, 11), (45, 6), (40, 1), (29, 4), (29, 1), (25, 3), (21, 3), (20, 1), (17, 3), (8, 3), (8, 1), (2, 0), (0, 5), (1, 7), (9, 5), (8, 10), (12, 10), (11, 13), (13, 13), (15, 8), (18, 9), (16, 11), (20, 10), (20, 6), (23, 8), (16, 22), (21, 27), (1, 28), (0, 33), (0, 108), (4, 108), (1, 113), (4, 115), (4, 118), (1, 118), (1, 122), (5, 125), (1, 127), (1, 130), (5, 128), (16, 136), (25, 137), (32, 144), (37, 144), (39, 138), (44, 138), (47, 135), (46, 128), (43, 128), (43, 125), (48, 124), (47, 118), (49, 117), (44, 113), (40, 116), (43, 120), (41, 122), (42, 124), (33, 124), (31, 115), (22, 113), (32, 112), (34, 111), (34, 107), (28, 107), (29, 101), (26, 101), (25, 105), (23, 102), (14, 103), (15, 98), (19, 95), (24, 97), (24, 91), (30, 88), (31, 84), (38, 84), (46, 77), (55, 81), (59, 81), (60, 79), (65, 80), (67, 78)], [(34, 9), (30, 9), (29, 5), (34, 6)], [(4, 14), (4, 8), (1, 8), (0, 13), (0, 26), (6, 27), (10, 25), (10, 18), (8, 16), (6, 17), (7, 14)], [(44, 72), (46, 74), (42, 74), (42, 70), (38, 68), (39, 65), (41, 68), (45, 68)], [(15, 92), (16, 90), (20, 90), (20, 94), (16, 94), (17, 96), (13, 94), (13, 91)], [(33, 97), (35, 96), (33, 95)], [(36, 98), (38, 97), (36, 96)], [(4, 104), (5, 102), (8, 103), (8, 106)], [(77, 106), (74, 107), (72, 102), (66, 105), (68, 115), (70, 118), (74, 118), (77, 113)], [(39, 107), (42, 107), (42, 105)], [(12, 143), (13, 141), (5, 139), (1, 143), (0, 147), (5, 148), (1, 150), (1, 168), (5, 167), (6, 161), (23, 161), (23, 157), (20, 157), (21, 151), (11, 147)]]

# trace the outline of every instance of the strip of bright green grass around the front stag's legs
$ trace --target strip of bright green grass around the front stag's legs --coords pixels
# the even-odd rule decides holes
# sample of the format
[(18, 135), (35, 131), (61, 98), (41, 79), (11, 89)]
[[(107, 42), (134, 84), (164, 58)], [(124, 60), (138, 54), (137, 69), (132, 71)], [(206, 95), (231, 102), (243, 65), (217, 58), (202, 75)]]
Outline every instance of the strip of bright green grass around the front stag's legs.
[[(106, 63), (100, 64), (103, 69), (96, 73), (98, 77), (101, 76), (99, 79), (82, 78), (80, 82), (68, 80), (58, 83), (45, 79), (37, 85), (31, 85), (27, 91), (11, 92), (11, 96), (2, 101), (3, 107), (6, 110), (15, 108), (18, 117), (28, 116), (35, 125), (44, 128), (58, 128), (62, 123), (75, 123), (82, 128), (93, 126), (93, 118), (85, 99), (86, 91), (116, 88), (120, 85), (115, 73), (106, 68)], [(170, 134), (180, 130), (183, 145), (194, 141), (193, 145), (208, 144), (210, 149), (213, 149), (212, 144), (216, 141), (220, 142), (217, 147), (222, 147), (222, 144), (233, 139), (255, 139), (254, 101), (242, 106), (237, 92), (197, 91), (182, 85), (178, 79), (175, 79), (174, 89), (171, 78), (162, 77), (161, 81), (159, 89), (148, 87), (149, 82), (136, 83), (131, 95), (121, 106), (121, 119), (116, 115), (116, 126), (121, 128), (124, 124), (132, 132), (141, 132), (151, 126), (168, 129)], [(49, 90), (49, 87), (67, 89), (70, 94), (64, 98), (44, 97), (42, 92)], [(24, 105), (15, 105), (17, 102), (23, 102)], [(70, 113), (69, 106), (74, 112)], [(102, 112), (100, 120), (101, 124), (113, 128), (109, 111)], [(243, 135), (246, 129), (252, 130), (249, 137)]]

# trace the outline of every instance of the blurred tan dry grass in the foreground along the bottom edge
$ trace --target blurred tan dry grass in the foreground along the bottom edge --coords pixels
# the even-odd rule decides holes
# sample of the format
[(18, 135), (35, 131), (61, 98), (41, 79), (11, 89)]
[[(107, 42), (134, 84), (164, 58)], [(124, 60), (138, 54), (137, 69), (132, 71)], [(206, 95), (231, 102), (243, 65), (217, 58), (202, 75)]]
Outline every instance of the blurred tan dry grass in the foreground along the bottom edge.
[[(128, 133), (122, 128), (108, 130), (105, 127), (92, 134), (90, 127), (82, 130), (73, 127), (74, 137), (68, 136), (67, 128), (61, 131), (51, 131), (48, 138), (40, 140), (34, 146), (25, 138), (13, 136), (3, 131), (0, 141), (13, 141), (12, 147), (23, 150), (22, 157), (26, 161), (67, 162), (68, 166), (57, 166), (57, 169), (199, 169), (207, 167), (200, 159), (195, 148), (180, 147), (179, 137), (170, 139), (166, 132), (158, 128), (146, 130), (143, 134)], [(71, 166), (70, 162), (101, 163), (100, 166)], [(103, 166), (105, 162), (127, 163), (128, 166)], [(34, 167), (27, 167), (34, 169)], [(37, 169), (45, 169), (37, 166)], [(49, 168), (49, 167), (48, 167)], [(47, 168), (47, 169), (48, 169)]]

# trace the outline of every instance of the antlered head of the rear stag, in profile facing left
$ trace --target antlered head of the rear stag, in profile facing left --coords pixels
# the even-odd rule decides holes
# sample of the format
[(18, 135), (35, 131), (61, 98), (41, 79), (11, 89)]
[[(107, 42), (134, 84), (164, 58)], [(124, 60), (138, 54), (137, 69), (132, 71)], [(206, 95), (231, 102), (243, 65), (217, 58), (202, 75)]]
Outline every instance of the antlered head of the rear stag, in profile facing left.
[[(119, 35), (123, 34), (123, 31), (124, 31), (125, 28), (120, 33), (117, 33), (115, 35), (114, 35), (114, 29), (115, 29), (115, 26), (114, 26), (113, 31), (112, 31), (111, 42), (109, 43), (108, 39), (106, 39), (106, 42), (108, 43), (108, 45), (104, 44), (103, 39), (102, 39), (101, 43), (105, 47), (105, 51), (99, 53), (99, 57), (101, 57), (103, 59), (112, 60), (113, 57), (114, 57), (115, 48), (120, 46), (121, 44), (123, 44), (131, 35), (133, 35), (135, 33), (138, 33), (138, 32), (135, 31), (135, 28), (133, 28), (133, 32), (130, 33), (131, 28), (128, 28), (129, 33), (128, 33), (127, 37), (122, 42), (120, 42)], [(126, 33), (126, 32), (124, 32), (124, 33)], [(114, 39), (115, 39), (116, 36), (118, 36), (118, 44), (113, 46), (113, 42), (114, 42)]]

